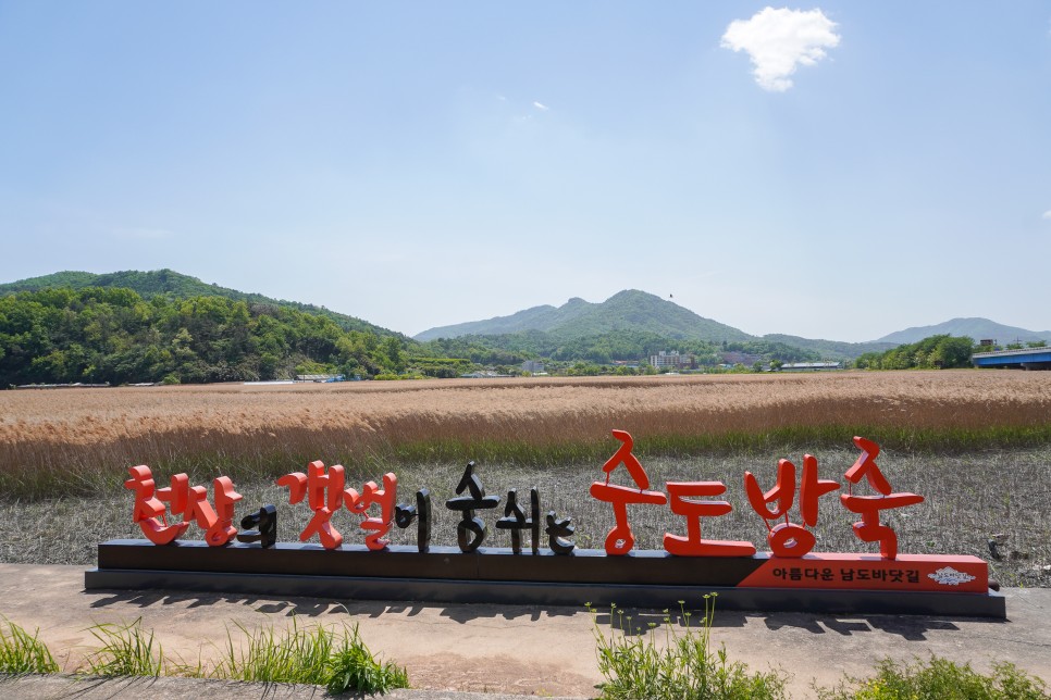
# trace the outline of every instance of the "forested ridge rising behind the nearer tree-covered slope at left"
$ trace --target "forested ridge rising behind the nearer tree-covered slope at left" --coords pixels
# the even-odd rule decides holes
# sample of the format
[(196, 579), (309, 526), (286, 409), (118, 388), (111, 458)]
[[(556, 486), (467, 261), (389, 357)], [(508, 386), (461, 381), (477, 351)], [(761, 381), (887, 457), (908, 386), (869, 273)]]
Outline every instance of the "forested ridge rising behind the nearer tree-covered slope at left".
[(381, 328), (361, 318), (336, 313), (329, 309), (305, 304), (296, 301), (285, 301), (283, 299), (272, 299), (262, 295), (238, 291), (227, 287), (220, 287), (214, 284), (207, 284), (197, 277), (180, 274), (173, 270), (154, 270), (152, 272), (139, 272), (127, 270), (106, 274), (95, 274), (90, 272), (66, 271), (58, 272), (42, 277), (32, 277), (8, 284), (0, 284), (0, 296), (16, 291), (39, 291), (47, 288), (65, 287), (70, 289), (84, 289), (86, 287), (123, 288), (132, 289), (144, 299), (153, 297), (165, 297), (168, 299), (189, 299), (191, 297), (224, 297), (234, 301), (245, 301), (251, 304), (269, 304), (281, 309), (295, 309), (318, 316), (324, 316), (335, 322), (344, 330), (361, 330), (373, 333), (384, 338), (387, 336), (398, 336), (405, 338), (400, 333)]

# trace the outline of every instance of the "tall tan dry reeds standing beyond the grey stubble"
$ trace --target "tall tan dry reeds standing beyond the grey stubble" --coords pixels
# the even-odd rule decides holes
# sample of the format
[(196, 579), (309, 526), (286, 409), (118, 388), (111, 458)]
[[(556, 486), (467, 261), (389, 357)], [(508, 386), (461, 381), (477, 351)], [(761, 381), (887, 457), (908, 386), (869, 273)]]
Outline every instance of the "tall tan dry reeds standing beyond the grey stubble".
[(980, 440), (989, 430), (1033, 434), (1039, 441), (1051, 428), (1051, 373), (0, 391), (0, 479), (10, 490), (13, 478), (32, 480), (46, 470), (90, 478), (111, 470), (123, 474), (129, 464), (187, 461), (238, 474), (304, 459), (404, 462), (482, 454), (562, 462), (601, 453), (611, 428), (631, 432), (643, 453), (661, 453), (661, 446), (663, 453), (673, 452), (677, 445), (733, 448), (778, 432), (825, 436), (837, 445), (849, 443), (856, 430), (886, 445), (924, 435), (949, 436), (950, 443)]

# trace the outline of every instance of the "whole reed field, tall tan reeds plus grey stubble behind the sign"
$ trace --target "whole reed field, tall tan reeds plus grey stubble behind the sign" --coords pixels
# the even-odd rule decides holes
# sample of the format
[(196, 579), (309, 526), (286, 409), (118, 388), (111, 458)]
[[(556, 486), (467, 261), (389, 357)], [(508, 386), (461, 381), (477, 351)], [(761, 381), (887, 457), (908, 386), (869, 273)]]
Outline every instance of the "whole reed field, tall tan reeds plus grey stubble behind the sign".
[[(991, 560), (1005, 585), (1051, 585), (1051, 373), (1037, 372), (2, 391), (0, 561), (89, 564), (98, 541), (138, 536), (121, 482), (140, 463), (161, 484), (178, 471), (200, 484), (232, 476), (245, 495), (238, 513), (277, 504), (279, 537), (294, 541), (310, 513), (288, 505), (273, 477), (314, 459), (344, 464), (348, 486), (393, 470), (403, 502), (426, 486), (435, 543), (449, 545), (455, 518), (443, 503), (463, 462), (477, 459), (489, 492), (506, 498), (509, 488), (521, 495), (537, 486), (545, 511), (574, 518), (579, 546), (601, 547), (611, 514), (586, 492), (619, 446), (611, 428), (634, 435), (657, 485), (722, 480), (734, 510), (706, 525), (705, 536), (759, 549), (765, 528), (744, 498), (744, 472), (769, 488), (779, 458), (799, 465), (808, 451), (823, 477), (842, 482), (857, 455), (850, 437), (861, 434), (883, 446), (879, 464), (895, 490), (927, 498), (891, 515), (902, 551), (976, 554)], [(770, 435), (776, 440), (763, 441)], [(931, 435), (940, 437), (914, 449)], [(1006, 447), (997, 443), (1004, 435)], [(335, 521), (348, 542), (361, 539), (358, 518)], [(664, 532), (678, 532), (677, 520), (667, 509), (633, 511), (638, 546), (659, 548)], [(816, 550), (868, 551), (852, 521), (830, 498)], [(491, 543), (507, 546), (504, 537), (491, 523)]]

